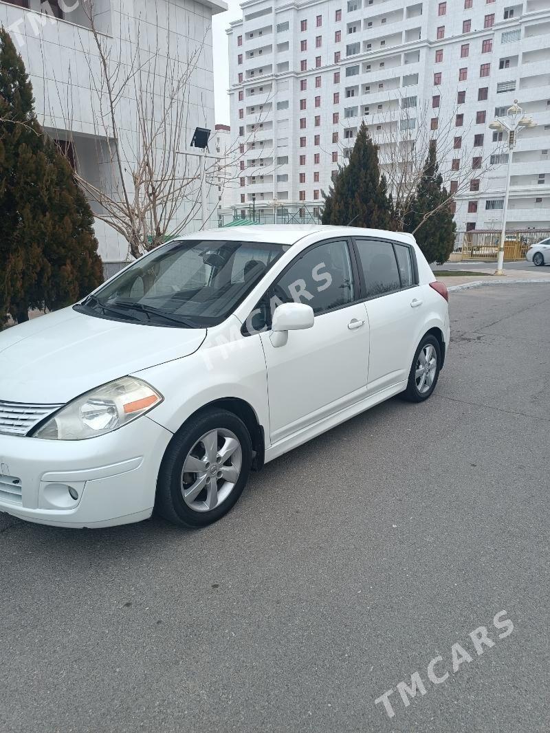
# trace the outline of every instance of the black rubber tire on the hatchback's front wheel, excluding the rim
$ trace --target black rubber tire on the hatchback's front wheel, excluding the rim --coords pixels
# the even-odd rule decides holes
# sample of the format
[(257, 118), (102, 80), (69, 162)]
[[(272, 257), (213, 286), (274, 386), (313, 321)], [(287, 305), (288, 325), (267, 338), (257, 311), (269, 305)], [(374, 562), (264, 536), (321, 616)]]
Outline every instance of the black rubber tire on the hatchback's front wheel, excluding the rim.
[[(183, 463), (197, 441), (211, 430), (230, 430), (238, 438), (241, 443), (241, 471), (224, 501), (214, 509), (196, 511), (183, 498)], [(204, 410), (183, 425), (166, 449), (158, 472), (155, 510), (169, 522), (183, 527), (199, 528), (212, 524), (235, 506), (248, 480), (251, 463), (252, 441), (243, 421), (227, 410)]]

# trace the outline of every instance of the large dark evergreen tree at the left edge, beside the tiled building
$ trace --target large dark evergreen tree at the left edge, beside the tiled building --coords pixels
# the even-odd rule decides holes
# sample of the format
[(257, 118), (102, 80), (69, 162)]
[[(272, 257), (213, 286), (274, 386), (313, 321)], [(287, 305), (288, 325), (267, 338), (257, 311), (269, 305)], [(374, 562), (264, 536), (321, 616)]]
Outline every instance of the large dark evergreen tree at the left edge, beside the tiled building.
[(92, 212), (34, 114), (32, 86), (0, 29), (0, 328), (10, 312), (74, 302), (102, 281)]

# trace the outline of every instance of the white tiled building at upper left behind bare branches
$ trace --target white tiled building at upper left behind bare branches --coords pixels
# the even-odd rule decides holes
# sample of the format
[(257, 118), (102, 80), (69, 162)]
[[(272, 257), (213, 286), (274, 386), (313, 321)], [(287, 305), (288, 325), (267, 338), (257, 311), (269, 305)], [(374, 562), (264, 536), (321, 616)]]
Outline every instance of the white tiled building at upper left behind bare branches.
[[(49, 0), (49, 3), (0, 0), (0, 23), (10, 32), (29, 73), (39, 122), (54, 139), (70, 142), (73, 146), (70, 157), (87, 180), (110, 180), (118, 172), (117, 166), (111, 166), (111, 161), (106, 159), (106, 135), (112, 136), (111, 144), (123, 145), (122, 158), (128, 161), (125, 174), (131, 174), (132, 151), (139, 145), (137, 95), (135, 85), (125, 86), (117, 104), (118, 129), (114, 139), (112, 128), (107, 125), (106, 130), (100, 124), (102, 116), (109, 119), (109, 115), (105, 95), (101, 106), (97, 94), (101, 88), (99, 57), (87, 17), (89, 0), (85, 1), (87, 5), (80, 0)], [(182, 92), (185, 109), (180, 120), (183, 119), (186, 129), (182, 131), (181, 141), (188, 146), (197, 127), (213, 130), (211, 18), (227, 10), (227, 4), (223, 0), (94, 0), (91, 7), (98, 32), (111, 45), (111, 71), (120, 67), (120, 78), (123, 78), (136, 64), (136, 58), (147, 61), (154, 70), (155, 83), (147, 92), (151, 95), (152, 110), (163, 105), (166, 68), (169, 68), (166, 59), (177, 59), (184, 68), (199, 48), (197, 62), (191, 65), (191, 75)], [(147, 84), (151, 79), (153, 75)], [(161, 144), (159, 141), (158, 145)], [(198, 168), (199, 158), (189, 158), (189, 161), (188, 165), (196, 161)], [(210, 185), (209, 216), (216, 210), (216, 204), (216, 188)], [(182, 202), (176, 219), (181, 216), (180, 221), (185, 221), (191, 211), (187, 230), (199, 229), (201, 211), (197, 208), (194, 213), (193, 208), (186, 207), (189, 203)], [(92, 205), (92, 209), (97, 213), (98, 205)], [(128, 243), (109, 224), (98, 219), (95, 232), (100, 256), (107, 273), (111, 274), (127, 259)]]

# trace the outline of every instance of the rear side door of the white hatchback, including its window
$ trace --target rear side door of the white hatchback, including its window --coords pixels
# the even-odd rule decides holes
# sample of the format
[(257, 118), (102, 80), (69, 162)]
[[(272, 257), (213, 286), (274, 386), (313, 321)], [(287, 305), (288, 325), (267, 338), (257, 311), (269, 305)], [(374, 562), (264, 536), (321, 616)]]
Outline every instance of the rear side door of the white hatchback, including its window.
[(411, 344), (425, 306), (412, 246), (367, 237), (354, 244), (370, 326), (367, 388), (372, 394), (408, 379)]

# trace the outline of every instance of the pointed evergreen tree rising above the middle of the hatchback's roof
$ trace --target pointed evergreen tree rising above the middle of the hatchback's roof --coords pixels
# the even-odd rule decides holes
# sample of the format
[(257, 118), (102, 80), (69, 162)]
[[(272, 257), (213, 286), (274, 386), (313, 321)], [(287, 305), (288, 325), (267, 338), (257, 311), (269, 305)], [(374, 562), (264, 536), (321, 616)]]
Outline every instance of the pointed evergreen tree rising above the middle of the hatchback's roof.
[(361, 123), (347, 166), (340, 166), (329, 194), (325, 195), (323, 224), (392, 228), (392, 200), (386, 177), (380, 174), (378, 145)]

